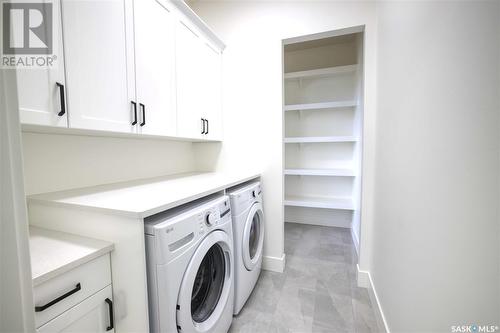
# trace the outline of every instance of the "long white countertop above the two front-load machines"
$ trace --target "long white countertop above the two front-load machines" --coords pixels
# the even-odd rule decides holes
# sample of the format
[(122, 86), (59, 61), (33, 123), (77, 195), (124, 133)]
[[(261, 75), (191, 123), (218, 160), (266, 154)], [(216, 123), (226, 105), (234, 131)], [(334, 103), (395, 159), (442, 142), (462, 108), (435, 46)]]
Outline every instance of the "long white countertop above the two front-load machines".
[(38, 194), (28, 202), (145, 218), (259, 177), (256, 173), (183, 173), (146, 180)]

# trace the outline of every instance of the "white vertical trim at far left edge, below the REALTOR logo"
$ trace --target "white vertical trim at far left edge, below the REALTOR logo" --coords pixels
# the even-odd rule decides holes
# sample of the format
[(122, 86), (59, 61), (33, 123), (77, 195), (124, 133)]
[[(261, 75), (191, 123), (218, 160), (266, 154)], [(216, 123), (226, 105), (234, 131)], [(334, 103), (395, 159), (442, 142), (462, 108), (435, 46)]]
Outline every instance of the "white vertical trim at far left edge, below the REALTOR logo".
[(15, 70), (0, 70), (0, 332), (34, 332), (35, 312)]

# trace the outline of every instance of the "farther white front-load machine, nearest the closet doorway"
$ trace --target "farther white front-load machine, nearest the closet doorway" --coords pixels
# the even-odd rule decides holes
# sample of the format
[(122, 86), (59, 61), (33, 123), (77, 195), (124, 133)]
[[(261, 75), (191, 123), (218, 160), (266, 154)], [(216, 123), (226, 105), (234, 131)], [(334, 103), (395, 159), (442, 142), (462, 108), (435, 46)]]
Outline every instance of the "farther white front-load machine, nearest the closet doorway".
[(260, 182), (229, 191), (234, 239), (234, 314), (252, 293), (262, 267), (264, 211)]

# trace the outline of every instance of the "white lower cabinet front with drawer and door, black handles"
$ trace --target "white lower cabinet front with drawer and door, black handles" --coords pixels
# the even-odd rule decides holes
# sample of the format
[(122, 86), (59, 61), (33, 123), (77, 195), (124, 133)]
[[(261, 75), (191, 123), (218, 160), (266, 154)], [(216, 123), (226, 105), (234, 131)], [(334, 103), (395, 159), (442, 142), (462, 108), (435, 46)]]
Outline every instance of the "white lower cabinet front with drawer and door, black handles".
[(110, 255), (33, 288), (37, 332), (114, 331)]

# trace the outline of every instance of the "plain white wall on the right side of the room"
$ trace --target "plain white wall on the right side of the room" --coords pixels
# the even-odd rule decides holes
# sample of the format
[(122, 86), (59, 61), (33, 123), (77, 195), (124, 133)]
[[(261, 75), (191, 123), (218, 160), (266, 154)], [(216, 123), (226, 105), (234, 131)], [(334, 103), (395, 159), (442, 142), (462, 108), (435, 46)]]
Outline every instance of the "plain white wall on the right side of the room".
[(378, 6), (371, 276), (393, 332), (499, 324), (499, 13)]

